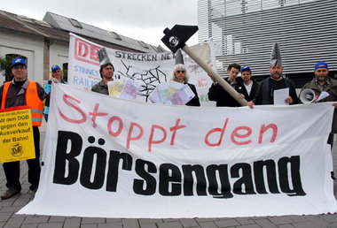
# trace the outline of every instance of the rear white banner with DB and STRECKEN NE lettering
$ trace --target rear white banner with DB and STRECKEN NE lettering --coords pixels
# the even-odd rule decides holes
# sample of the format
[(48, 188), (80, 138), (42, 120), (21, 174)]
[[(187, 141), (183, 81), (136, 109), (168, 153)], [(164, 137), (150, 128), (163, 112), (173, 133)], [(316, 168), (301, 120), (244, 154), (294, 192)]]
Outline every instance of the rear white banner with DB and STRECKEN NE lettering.
[[(87, 41), (80, 36), (70, 34), (68, 84), (76, 87), (90, 88), (101, 80), (99, 74), (98, 50), (100, 46)], [(216, 58), (213, 42), (204, 42), (192, 47), (193, 51), (209, 66), (216, 70)], [(108, 49), (109, 57), (114, 57), (114, 78), (132, 79), (141, 85), (137, 95), (138, 101), (147, 102), (148, 95), (162, 82), (169, 81), (175, 66), (175, 55), (172, 52), (139, 53), (126, 52), (118, 49)], [(183, 53), (184, 65), (190, 76), (189, 83), (197, 88), (200, 103), (203, 106), (214, 106), (208, 100), (208, 88), (212, 80), (199, 65)]]

